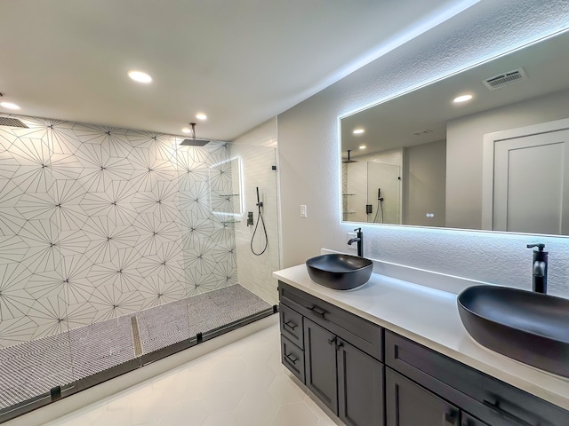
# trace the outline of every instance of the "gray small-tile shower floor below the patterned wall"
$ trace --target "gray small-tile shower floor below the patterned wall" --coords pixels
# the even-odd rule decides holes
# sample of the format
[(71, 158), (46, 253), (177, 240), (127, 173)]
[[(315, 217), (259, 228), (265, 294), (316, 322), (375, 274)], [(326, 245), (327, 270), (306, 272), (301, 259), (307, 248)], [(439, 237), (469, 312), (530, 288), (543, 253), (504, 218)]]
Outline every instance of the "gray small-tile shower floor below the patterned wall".
[[(3, 348), (0, 409), (269, 308), (260, 297), (236, 284)], [(138, 325), (138, 351), (132, 324)]]

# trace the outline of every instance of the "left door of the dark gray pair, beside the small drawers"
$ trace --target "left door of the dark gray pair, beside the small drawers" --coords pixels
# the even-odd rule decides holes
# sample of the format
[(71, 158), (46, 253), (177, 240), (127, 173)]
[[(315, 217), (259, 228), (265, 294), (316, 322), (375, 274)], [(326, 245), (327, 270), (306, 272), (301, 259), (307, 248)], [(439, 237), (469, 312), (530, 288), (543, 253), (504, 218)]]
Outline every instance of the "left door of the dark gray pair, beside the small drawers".
[(336, 335), (304, 319), (306, 385), (338, 414), (336, 385)]

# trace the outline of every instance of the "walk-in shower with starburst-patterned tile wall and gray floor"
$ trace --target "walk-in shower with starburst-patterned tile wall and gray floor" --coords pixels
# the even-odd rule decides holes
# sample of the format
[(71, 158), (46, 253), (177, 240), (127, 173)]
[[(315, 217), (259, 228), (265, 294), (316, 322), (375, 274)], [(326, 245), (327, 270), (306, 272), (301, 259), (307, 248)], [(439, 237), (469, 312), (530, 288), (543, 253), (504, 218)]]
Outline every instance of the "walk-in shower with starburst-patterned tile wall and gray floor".
[[(54, 386), (272, 309), (275, 148), (11, 117), (28, 128), (0, 127), (0, 422)], [(245, 182), (256, 162), (271, 174)], [(242, 274), (253, 185), (272, 228)]]

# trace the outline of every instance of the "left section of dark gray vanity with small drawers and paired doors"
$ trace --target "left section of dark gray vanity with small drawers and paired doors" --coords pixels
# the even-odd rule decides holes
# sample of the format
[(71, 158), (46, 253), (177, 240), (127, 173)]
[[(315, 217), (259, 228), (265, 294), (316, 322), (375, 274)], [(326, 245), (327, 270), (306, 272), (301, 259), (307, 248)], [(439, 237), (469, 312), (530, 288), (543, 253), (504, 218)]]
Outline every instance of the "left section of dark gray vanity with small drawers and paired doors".
[(284, 283), (279, 293), (284, 366), (346, 424), (383, 426), (382, 328)]

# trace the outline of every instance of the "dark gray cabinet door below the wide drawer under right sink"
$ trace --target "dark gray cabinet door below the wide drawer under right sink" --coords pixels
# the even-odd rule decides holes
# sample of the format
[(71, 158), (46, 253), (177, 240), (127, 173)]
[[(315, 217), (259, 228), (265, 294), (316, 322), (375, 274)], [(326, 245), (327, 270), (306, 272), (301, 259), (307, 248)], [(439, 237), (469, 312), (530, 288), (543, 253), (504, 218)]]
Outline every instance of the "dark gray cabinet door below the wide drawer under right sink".
[(386, 367), (387, 426), (459, 426), (460, 411)]

